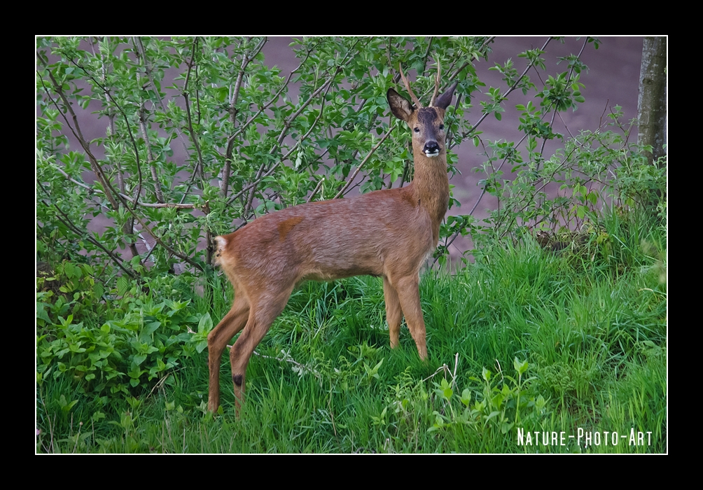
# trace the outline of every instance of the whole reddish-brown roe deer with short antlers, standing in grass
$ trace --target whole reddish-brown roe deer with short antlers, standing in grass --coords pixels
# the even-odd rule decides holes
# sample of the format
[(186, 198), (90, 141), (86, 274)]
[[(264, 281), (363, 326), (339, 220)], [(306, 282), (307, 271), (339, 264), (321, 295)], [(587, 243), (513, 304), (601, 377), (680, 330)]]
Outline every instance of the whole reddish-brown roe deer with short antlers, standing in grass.
[(254, 219), (235, 233), (216, 237), (215, 264), (234, 288), (232, 308), (207, 336), (207, 406), (219, 407), (219, 370), (227, 342), (244, 329), (230, 351), (237, 411), (243, 402), (250, 356), (283, 311), (295, 285), (368, 274), (383, 278), (391, 347), (398, 347), (405, 315), (420, 359), (427, 359), (420, 308), (420, 266), (439, 240), (449, 203), (444, 112), (456, 83), (423, 108), (404, 74), (417, 109), (393, 89), (387, 100), (413, 134), (415, 176), (406, 187), (288, 207)]

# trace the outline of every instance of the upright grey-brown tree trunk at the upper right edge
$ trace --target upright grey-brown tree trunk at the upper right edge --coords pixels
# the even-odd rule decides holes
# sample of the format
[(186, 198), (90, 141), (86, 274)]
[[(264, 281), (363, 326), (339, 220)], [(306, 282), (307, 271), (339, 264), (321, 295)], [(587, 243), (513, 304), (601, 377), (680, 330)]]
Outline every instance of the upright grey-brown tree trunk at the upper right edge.
[(666, 37), (645, 37), (642, 46), (638, 143), (651, 145), (650, 163), (666, 154)]

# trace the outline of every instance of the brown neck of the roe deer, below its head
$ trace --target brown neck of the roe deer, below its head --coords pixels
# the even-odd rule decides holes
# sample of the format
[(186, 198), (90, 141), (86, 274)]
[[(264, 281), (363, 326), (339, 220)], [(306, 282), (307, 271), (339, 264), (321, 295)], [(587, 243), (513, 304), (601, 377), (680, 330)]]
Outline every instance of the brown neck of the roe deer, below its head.
[(434, 158), (426, 157), (422, 152), (415, 152), (415, 176), (411, 188), (418, 204), (430, 214), (432, 236), (434, 243), (437, 243), (439, 224), (444, 219), (449, 205), (449, 177), (446, 174), (444, 150)]

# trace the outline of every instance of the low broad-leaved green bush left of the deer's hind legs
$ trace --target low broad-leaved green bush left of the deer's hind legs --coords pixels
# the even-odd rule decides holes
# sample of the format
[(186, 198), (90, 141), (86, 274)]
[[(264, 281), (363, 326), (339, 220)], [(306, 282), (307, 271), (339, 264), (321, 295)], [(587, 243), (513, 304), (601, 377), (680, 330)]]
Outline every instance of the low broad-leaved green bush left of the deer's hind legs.
[[(60, 286), (65, 292), (75, 286), (79, 271), (90, 271), (89, 266), (73, 266), (70, 262), (65, 262), (62, 269), (73, 278)], [(90, 276), (81, 278), (94, 283)], [(116, 300), (103, 300), (96, 290), (101, 291), (93, 288), (75, 292), (70, 302), (62, 295), (55, 302), (47, 302), (52, 292), (39, 293), (43, 299), (37, 302), (40, 382), (49, 376), (56, 379), (67, 375), (89, 398), (105, 396), (107, 400), (115, 394), (129, 395), (130, 388), (145, 382), (162, 379), (168, 370), (179, 366), (183, 356), (195, 352), (188, 330), (200, 318), (189, 312), (190, 301), (155, 301), (145, 294), (136, 295), (136, 285)], [(76, 314), (83, 313), (85, 303), (93, 305), (91, 315), (77, 321)], [(71, 307), (75, 313), (67, 314)]]

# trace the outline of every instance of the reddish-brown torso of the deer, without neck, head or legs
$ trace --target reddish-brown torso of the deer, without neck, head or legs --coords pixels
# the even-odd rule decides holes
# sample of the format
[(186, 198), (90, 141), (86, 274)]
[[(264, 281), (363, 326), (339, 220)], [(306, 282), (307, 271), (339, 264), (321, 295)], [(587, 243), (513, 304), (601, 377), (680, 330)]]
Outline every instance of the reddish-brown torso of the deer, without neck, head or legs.
[(219, 241), (224, 269), (285, 282), (417, 273), (437, 245), (407, 187), (282, 209)]

